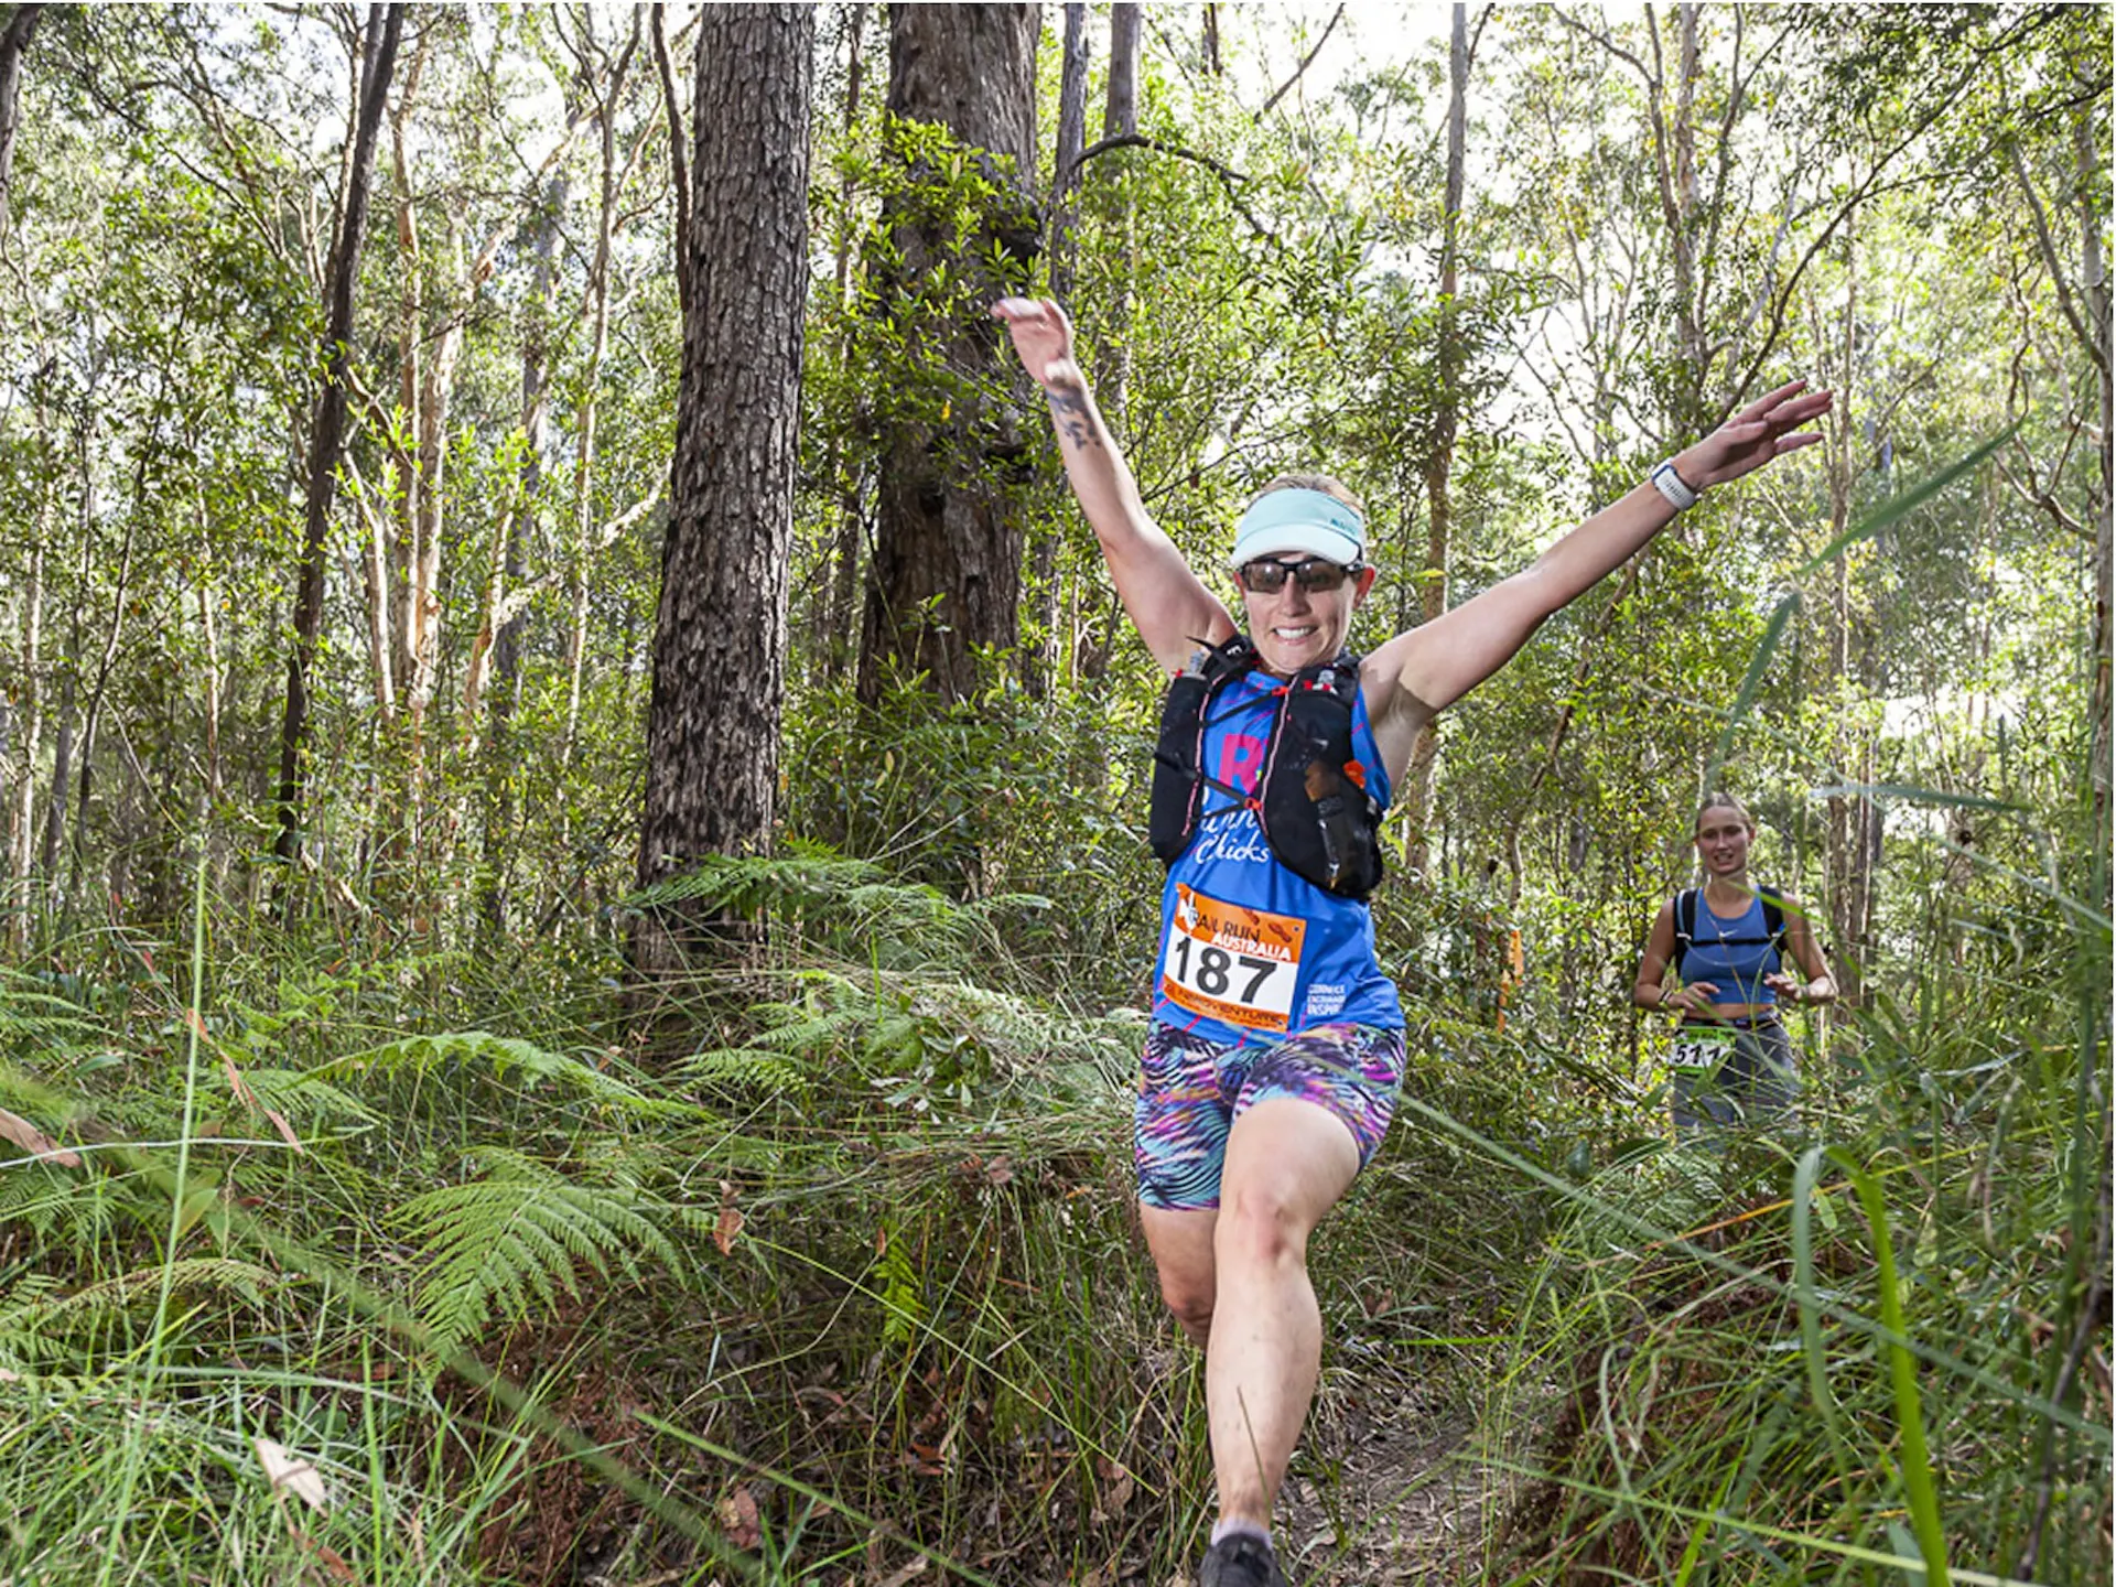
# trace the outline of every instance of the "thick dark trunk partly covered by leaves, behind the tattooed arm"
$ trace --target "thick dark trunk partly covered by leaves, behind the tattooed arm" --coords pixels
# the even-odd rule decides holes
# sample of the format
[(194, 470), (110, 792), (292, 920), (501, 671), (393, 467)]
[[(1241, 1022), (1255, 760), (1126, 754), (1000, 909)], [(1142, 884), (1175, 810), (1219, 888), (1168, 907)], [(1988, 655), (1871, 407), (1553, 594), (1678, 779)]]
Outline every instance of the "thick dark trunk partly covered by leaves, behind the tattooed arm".
[[(893, 421), (882, 446), (880, 525), (861, 624), (859, 694), (876, 700), (891, 671), (923, 673), (946, 700), (969, 696), (982, 647), (1014, 650), (1020, 633), (1022, 537), (1001, 501), (1003, 474), (1026, 446), (1009, 434), (1001, 387), (999, 326), (986, 315), (935, 315), (923, 303), (942, 264), (982, 269), (997, 243), (1016, 260), (1039, 248), (1035, 203), (1022, 186), (1035, 169), (1037, 6), (891, 6), (889, 110), (937, 123), (988, 163), (997, 186), (980, 237), (963, 248), (954, 226), (923, 207), (895, 207), (901, 256), (893, 307), (908, 336), (929, 349), (952, 389), (937, 413)], [(982, 279), (975, 298), (1011, 286)]]

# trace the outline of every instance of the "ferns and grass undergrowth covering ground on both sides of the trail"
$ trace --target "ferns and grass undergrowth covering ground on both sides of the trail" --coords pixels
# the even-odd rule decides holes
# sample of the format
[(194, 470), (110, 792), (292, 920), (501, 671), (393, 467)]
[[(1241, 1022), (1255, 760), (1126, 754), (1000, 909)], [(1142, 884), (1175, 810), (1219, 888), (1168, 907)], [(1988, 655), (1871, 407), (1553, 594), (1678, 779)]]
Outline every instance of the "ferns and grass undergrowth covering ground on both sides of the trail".
[[(1187, 1581), (1136, 1016), (1037, 990), (1041, 899), (679, 895), (768, 946), (645, 1007), (612, 948), (203, 904), (6, 971), (0, 1581)], [(1839, 1022), (1796, 1141), (1674, 1149), (1428, 1009), (1314, 1253), (1303, 1579), (2103, 1581), (2108, 925), (2044, 904)], [(1390, 1418), (1473, 1428), (1416, 1570), (1350, 1492)]]

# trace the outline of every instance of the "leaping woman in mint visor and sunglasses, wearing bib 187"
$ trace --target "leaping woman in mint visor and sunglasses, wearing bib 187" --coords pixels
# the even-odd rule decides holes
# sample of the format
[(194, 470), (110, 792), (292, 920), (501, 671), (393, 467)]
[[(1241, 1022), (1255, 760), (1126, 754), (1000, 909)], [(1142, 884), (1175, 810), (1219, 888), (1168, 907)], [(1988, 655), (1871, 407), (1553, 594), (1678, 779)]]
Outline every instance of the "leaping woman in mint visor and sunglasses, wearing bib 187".
[[(1111, 582), (1174, 679), (1153, 838), (1170, 863), (1134, 1155), (1162, 1297), (1206, 1350), (1219, 1524), (1200, 1587), (1284, 1583), (1272, 1502), (1314, 1397), (1322, 1318), (1308, 1234), (1388, 1128), (1403, 1009), (1373, 956), (1375, 827), (1420, 728), (1697, 493), (1820, 440), (1803, 381), (1750, 404), (1536, 563), (1365, 658), (1367, 523), (1331, 478), (1274, 480), (1242, 514), (1236, 616), (1138, 497), (1050, 298), (992, 313), (1043, 387)], [(1238, 641), (1240, 643), (1229, 643)]]

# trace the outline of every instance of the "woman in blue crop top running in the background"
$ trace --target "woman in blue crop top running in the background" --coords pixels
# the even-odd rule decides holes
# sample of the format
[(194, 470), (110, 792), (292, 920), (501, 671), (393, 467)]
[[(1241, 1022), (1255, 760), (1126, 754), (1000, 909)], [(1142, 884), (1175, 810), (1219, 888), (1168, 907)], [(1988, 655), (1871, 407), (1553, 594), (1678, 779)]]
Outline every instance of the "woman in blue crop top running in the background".
[[(1638, 961), (1631, 1001), (1676, 1009), (1674, 1119), (1678, 1132), (1784, 1113), (1799, 1092), (1792, 1041), (1777, 999), (1830, 1003), (1837, 982), (1801, 906), (1748, 878), (1756, 819), (1733, 794), (1712, 794), (1693, 838), (1703, 887), (1661, 906)], [(1786, 965), (1796, 965), (1790, 975)], [(1674, 969), (1682, 984), (1672, 986)]]

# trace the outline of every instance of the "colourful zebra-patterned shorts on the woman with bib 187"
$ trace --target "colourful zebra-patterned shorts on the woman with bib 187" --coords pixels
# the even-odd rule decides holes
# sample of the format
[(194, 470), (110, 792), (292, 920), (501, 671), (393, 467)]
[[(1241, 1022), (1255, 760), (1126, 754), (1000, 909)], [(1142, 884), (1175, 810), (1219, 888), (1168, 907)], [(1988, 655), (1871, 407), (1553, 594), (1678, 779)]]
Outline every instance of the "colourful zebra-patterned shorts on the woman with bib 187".
[(1170, 1212), (1219, 1206), (1227, 1132), (1270, 1096), (1297, 1096), (1344, 1119), (1365, 1168), (1388, 1132), (1401, 1088), (1401, 1030), (1316, 1024), (1276, 1047), (1223, 1047), (1155, 1024), (1132, 1132), (1138, 1200)]

